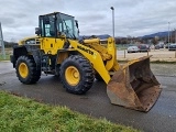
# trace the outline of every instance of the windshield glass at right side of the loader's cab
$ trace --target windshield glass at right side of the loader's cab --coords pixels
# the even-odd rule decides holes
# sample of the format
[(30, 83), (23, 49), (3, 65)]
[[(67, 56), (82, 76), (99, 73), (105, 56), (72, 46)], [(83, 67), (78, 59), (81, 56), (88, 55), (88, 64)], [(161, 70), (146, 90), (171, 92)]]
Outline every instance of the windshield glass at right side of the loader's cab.
[(74, 16), (58, 13), (56, 26), (58, 32), (66, 34), (66, 37), (78, 38)]

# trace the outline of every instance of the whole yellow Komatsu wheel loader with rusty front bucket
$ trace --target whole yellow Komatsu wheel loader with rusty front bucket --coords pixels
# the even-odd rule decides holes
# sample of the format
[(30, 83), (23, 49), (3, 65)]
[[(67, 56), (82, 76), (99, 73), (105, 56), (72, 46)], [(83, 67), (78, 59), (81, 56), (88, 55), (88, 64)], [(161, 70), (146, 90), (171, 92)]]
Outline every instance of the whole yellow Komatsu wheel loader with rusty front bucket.
[(113, 105), (147, 112), (156, 102), (161, 88), (150, 68), (151, 56), (120, 65), (113, 37), (106, 44), (98, 37), (78, 40), (78, 21), (61, 12), (40, 15), (35, 34), (21, 40), (11, 55), (22, 84), (35, 84), (43, 72), (58, 75), (66, 91), (82, 95), (97, 78), (107, 84)]

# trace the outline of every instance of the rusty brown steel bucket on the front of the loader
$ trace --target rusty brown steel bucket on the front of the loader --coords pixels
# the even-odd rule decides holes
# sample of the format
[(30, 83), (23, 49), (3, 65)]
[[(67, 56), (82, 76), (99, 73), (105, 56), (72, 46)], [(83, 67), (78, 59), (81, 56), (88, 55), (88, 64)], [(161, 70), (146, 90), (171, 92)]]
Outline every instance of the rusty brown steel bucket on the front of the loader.
[(147, 112), (162, 89), (150, 68), (150, 57), (131, 61), (116, 72), (107, 86), (111, 103)]

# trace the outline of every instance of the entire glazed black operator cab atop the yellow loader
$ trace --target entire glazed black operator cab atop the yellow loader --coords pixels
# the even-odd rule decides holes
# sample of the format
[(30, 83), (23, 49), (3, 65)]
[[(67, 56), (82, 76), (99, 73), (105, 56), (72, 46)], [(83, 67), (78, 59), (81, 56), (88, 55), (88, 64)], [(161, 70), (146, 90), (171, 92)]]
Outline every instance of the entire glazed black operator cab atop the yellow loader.
[(38, 28), (35, 34), (42, 37), (66, 37), (77, 40), (79, 36), (78, 22), (74, 16), (54, 12), (38, 16)]

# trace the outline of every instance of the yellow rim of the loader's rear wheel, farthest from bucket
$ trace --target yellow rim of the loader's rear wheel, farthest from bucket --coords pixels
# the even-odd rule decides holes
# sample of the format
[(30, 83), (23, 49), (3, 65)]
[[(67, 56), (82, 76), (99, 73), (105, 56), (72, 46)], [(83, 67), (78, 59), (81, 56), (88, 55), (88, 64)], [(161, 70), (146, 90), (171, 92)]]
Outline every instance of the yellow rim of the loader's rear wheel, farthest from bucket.
[(29, 68), (25, 63), (21, 63), (19, 66), (20, 76), (26, 78), (29, 75)]

